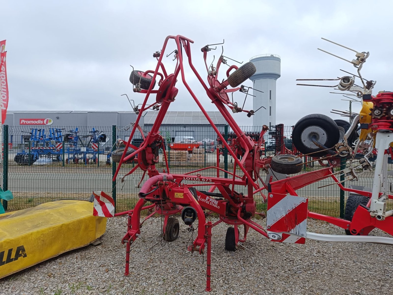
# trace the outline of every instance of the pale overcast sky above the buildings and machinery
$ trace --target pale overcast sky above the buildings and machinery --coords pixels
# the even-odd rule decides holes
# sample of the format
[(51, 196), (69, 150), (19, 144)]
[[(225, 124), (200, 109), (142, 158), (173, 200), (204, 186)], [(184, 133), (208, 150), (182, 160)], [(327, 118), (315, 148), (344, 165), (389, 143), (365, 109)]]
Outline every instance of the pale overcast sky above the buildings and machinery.
[[(343, 76), (355, 68), (320, 52), (322, 48), (347, 59), (354, 52), (321, 40), (369, 51), (362, 74), (377, 80), (374, 93), (391, 90), (391, 1), (5, 1), (0, 0), (0, 40), (7, 39), (9, 110), (130, 110), (129, 75), (155, 68), (152, 53), (167, 35), (184, 35), (195, 43), (193, 63), (206, 79), (200, 48), (225, 39), (224, 55), (240, 61), (265, 53), (281, 56), (277, 80), (277, 124), (331, 109), (347, 110), (347, 101), (321, 87), (296, 86), (297, 78)], [(168, 53), (174, 50), (168, 45)], [(219, 55), (220, 52), (209, 52)], [(208, 60), (213, 59), (208, 55)], [(165, 65), (173, 69), (171, 57)], [(215, 107), (187, 70), (186, 79), (208, 111)], [(180, 80), (180, 79), (179, 79)], [(179, 81), (181, 83), (181, 81)], [(170, 111), (196, 111), (187, 90)], [(252, 86), (252, 82), (247, 82)], [(241, 93), (237, 94), (242, 102)], [(354, 110), (359, 105), (354, 104)], [(245, 109), (252, 108), (248, 99)], [(245, 113), (239, 125), (252, 125)]]

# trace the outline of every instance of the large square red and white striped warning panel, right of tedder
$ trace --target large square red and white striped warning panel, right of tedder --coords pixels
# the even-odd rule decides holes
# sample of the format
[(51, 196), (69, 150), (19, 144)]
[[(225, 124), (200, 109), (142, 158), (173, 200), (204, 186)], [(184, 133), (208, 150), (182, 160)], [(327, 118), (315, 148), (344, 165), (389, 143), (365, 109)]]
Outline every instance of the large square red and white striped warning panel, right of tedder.
[(268, 194), (266, 227), (271, 241), (304, 244), (309, 200), (285, 194)]

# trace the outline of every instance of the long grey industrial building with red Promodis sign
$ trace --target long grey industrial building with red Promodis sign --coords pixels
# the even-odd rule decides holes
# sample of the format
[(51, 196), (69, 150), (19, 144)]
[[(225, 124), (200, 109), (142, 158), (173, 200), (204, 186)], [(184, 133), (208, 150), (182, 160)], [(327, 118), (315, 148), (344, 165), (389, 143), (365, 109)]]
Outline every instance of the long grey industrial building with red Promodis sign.
[[(156, 120), (158, 111), (144, 112), (139, 125), (144, 131), (150, 131)], [(224, 132), (226, 121), (220, 112), (208, 112), (220, 132)], [(5, 125), (9, 125), (10, 140), (13, 144), (22, 144), (29, 136), (31, 129), (50, 128), (64, 129), (63, 134), (78, 127), (79, 135), (88, 135), (92, 127), (100, 133), (112, 136), (112, 125), (116, 125), (117, 137), (128, 140), (130, 124), (136, 121), (137, 114), (131, 111), (9, 111)], [(210, 138), (215, 140), (217, 135), (202, 112), (169, 111), (165, 114), (160, 132), (164, 138), (174, 141), (175, 136), (193, 136), (196, 141)], [(134, 138), (141, 138), (136, 131)], [(111, 147), (112, 142), (103, 144)]]

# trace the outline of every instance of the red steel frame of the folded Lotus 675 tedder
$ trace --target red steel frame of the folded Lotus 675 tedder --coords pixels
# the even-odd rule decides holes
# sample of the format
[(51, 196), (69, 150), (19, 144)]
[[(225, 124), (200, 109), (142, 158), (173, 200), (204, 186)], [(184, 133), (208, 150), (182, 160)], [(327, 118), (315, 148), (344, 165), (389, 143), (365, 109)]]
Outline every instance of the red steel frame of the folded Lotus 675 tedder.
[[(176, 67), (174, 69), (173, 74), (167, 74), (165, 67), (163, 66), (162, 63), (162, 58), (165, 52), (165, 48), (167, 46), (167, 43), (170, 39), (173, 39), (176, 43), (176, 49), (177, 53), (175, 55), (176, 59)], [(128, 230), (126, 236), (123, 238), (123, 243), (127, 243), (127, 257), (126, 257), (126, 271), (125, 275), (128, 275), (129, 273), (129, 249), (130, 245), (136, 240), (136, 238), (140, 234), (140, 211), (143, 207), (143, 205), (147, 201), (151, 201), (153, 204), (156, 204), (156, 208), (152, 214), (147, 216), (149, 218), (150, 216), (159, 213), (165, 215), (164, 219), (164, 229), (167, 221), (167, 217), (170, 214), (175, 214), (177, 212), (180, 212), (182, 210), (184, 205), (191, 205), (195, 210), (197, 211), (198, 214), (198, 235), (193, 241), (193, 245), (189, 247), (190, 251), (198, 251), (199, 253), (203, 253), (205, 245), (207, 245), (207, 251), (208, 251), (208, 256), (207, 256), (207, 287), (206, 290), (210, 291), (210, 241), (211, 241), (211, 227), (214, 227), (215, 225), (219, 224), (220, 222), (224, 221), (229, 224), (235, 225), (237, 227), (238, 225), (243, 225), (244, 226), (244, 237), (239, 238), (239, 234), (237, 230), (235, 230), (235, 238), (236, 238), (236, 243), (238, 241), (244, 242), (246, 240), (246, 235), (248, 232), (248, 229), (251, 227), (252, 229), (256, 230), (257, 232), (263, 234), (264, 236), (267, 236), (266, 232), (264, 231), (263, 227), (258, 225), (257, 223), (253, 222), (251, 220), (251, 217), (256, 213), (256, 205), (255, 201), (253, 199), (253, 195), (255, 193), (259, 193), (263, 199), (266, 199), (266, 196), (261, 192), (264, 188), (266, 188), (266, 185), (263, 187), (260, 187), (259, 184), (257, 183), (256, 179), (256, 169), (259, 170), (261, 166), (263, 166), (265, 163), (270, 162), (270, 159), (266, 160), (260, 160), (259, 159), (259, 145), (255, 144), (255, 142), (250, 138), (250, 136), (246, 136), (244, 132), (239, 128), (239, 126), (236, 124), (235, 120), (232, 118), (230, 112), (228, 109), (226, 109), (225, 105), (228, 107), (232, 108), (233, 104), (230, 102), (228, 98), (228, 92), (234, 92), (240, 89), (240, 87), (236, 87), (234, 89), (227, 89), (229, 82), (227, 80), (223, 81), (220, 83), (217, 79), (217, 75), (215, 76), (208, 76), (208, 82), (209, 86), (204, 83), (198, 72), (196, 71), (195, 67), (192, 64), (191, 61), (191, 49), (190, 49), (190, 44), (193, 43), (192, 40), (177, 35), (177, 36), (168, 36), (165, 39), (165, 42), (163, 44), (160, 57), (158, 59), (158, 63), (156, 66), (156, 69), (154, 71), (146, 71), (144, 74), (152, 74), (152, 81), (154, 81), (158, 76), (161, 77), (160, 82), (158, 85), (160, 88), (158, 90), (152, 90), (153, 83), (151, 83), (150, 87), (148, 90), (140, 90), (139, 92), (146, 94), (145, 100), (142, 103), (140, 112), (138, 114), (138, 117), (136, 119), (136, 122), (134, 124), (134, 127), (132, 128), (129, 140), (125, 146), (125, 152), (123, 153), (123, 157), (121, 158), (118, 168), (116, 170), (116, 173), (114, 175), (114, 181), (116, 181), (117, 175), (119, 173), (120, 167), (123, 162), (127, 162), (129, 160), (132, 160), (135, 158), (135, 156), (138, 154), (138, 165), (130, 173), (135, 171), (136, 168), (141, 168), (144, 171), (147, 171), (147, 174), (149, 177), (158, 177), (158, 179), (161, 179), (161, 181), (157, 181), (156, 184), (158, 184), (158, 190), (155, 192), (151, 192), (151, 194), (148, 194), (145, 198), (141, 198), (133, 212), (129, 213), (129, 223), (128, 223)], [(202, 52), (204, 53), (204, 61), (206, 64), (206, 69), (208, 69), (208, 65), (206, 63), (206, 56), (208, 52), (208, 48), (202, 48)], [(222, 116), (225, 118), (225, 120), (228, 122), (230, 125), (231, 129), (237, 136), (237, 142), (238, 142), (238, 148), (235, 149), (234, 151), (231, 149), (231, 147), (228, 145), (228, 143), (224, 140), (224, 137), (220, 134), (217, 126), (213, 123), (211, 118), (209, 117), (208, 113), (205, 111), (205, 109), (202, 107), (202, 104), (198, 101), (196, 98), (194, 92), (191, 90), (189, 85), (187, 84), (187, 81), (185, 79), (185, 74), (184, 74), (184, 65), (183, 65), (183, 56), (188, 58), (188, 64), (192, 71), (194, 72), (195, 76), (198, 78), (204, 89), (206, 90), (206, 94), (208, 97), (212, 100), (212, 102), (216, 105), (217, 109), (221, 112)], [(219, 71), (219, 67), (222, 63), (222, 60), (219, 59), (217, 66), (216, 66), (216, 71)], [(159, 70), (162, 70), (162, 74), (159, 72)], [(230, 66), (230, 68), (226, 71), (227, 77), (230, 75), (231, 70), (237, 70), (237, 66)], [(169, 166), (167, 162), (167, 157), (165, 153), (165, 147), (162, 146), (164, 150), (164, 158), (166, 162), (166, 171), (164, 170), (163, 173), (160, 173), (156, 170), (155, 168), (155, 163), (158, 162), (158, 157), (156, 157), (154, 151), (152, 151), (151, 147), (154, 142), (160, 142), (162, 140), (162, 137), (159, 134), (159, 127), (162, 123), (162, 120), (165, 116), (166, 111), (168, 110), (169, 105), (171, 102), (174, 101), (174, 98), (177, 94), (177, 89), (175, 86), (178, 75), (181, 75), (182, 77), (182, 82), (195, 100), (196, 104), (200, 108), (200, 110), (203, 112), (203, 114), (206, 116), (207, 120), (209, 121), (209, 124), (213, 127), (213, 129), (216, 131), (217, 135), (219, 136), (220, 140), (223, 142), (224, 146), (228, 149), (228, 152), (230, 155), (233, 157), (235, 161), (235, 167), (234, 167), (234, 173), (231, 173), (230, 171), (225, 171), (232, 177), (229, 179), (223, 179), (219, 177), (219, 170), (223, 171), (219, 167), (208, 167), (196, 171), (192, 171), (190, 173), (186, 174), (172, 174), (169, 172)], [(163, 95), (165, 93), (165, 96)], [(157, 94), (156, 97), (156, 102), (160, 104), (160, 111), (158, 112), (156, 121), (154, 122), (154, 125), (152, 126), (151, 131), (148, 133), (146, 136), (145, 140), (141, 144), (139, 148), (133, 146), (130, 144), (132, 137), (135, 134), (136, 131), (136, 126), (138, 125), (138, 122), (140, 120), (141, 114), (143, 111), (147, 110), (151, 105), (154, 105), (155, 103), (148, 105), (147, 101), (149, 99), (149, 96), (151, 94)], [(242, 110), (244, 112), (248, 112), (245, 110)], [(261, 132), (261, 138), (263, 138), (263, 134), (268, 130), (267, 127), (264, 127), (262, 132)], [(135, 151), (128, 155), (125, 156), (126, 151), (128, 148), (131, 147)], [(254, 148), (258, 148), (258, 152), (254, 152)], [(239, 160), (237, 159), (237, 154), (242, 156), (242, 159)], [(134, 159), (135, 160), (135, 159)], [(236, 167), (239, 166), (239, 168), (242, 170), (243, 175), (239, 176), (236, 175)], [(201, 172), (202, 170), (209, 169), (209, 168), (214, 168), (217, 169), (217, 177), (204, 177), (200, 175), (198, 172)], [(128, 174), (130, 174), (128, 173)], [(195, 174), (198, 173), (198, 174)], [(165, 177), (171, 176), (171, 179), (173, 181), (165, 181)], [(182, 184), (183, 180), (193, 180), (193, 181), (200, 181), (202, 184)], [(192, 192), (190, 192), (189, 187), (196, 187), (196, 186), (210, 186), (209, 192), (213, 192), (216, 188), (219, 190), (219, 192), (222, 194), (222, 199), (215, 201), (214, 199), (210, 198), (208, 195), (202, 194), (201, 192), (198, 192), (197, 196), (193, 195)], [(248, 194), (243, 195), (235, 192), (234, 187), (235, 185), (242, 185), (247, 187)], [(149, 190), (149, 189), (148, 189)], [(162, 195), (165, 195), (166, 198), (162, 198)], [(176, 199), (176, 196), (181, 195), (182, 198), (181, 200)], [(196, 200), (198, 198), (198, 201)], [(159, 201), (158, 201), (159, 200)], [(202, 205), (200, 205), (202, 204)], [(210, 222), (206, 223), (205, 219), (205, 209), (211, 210), (213, 212), (216, 212), (220, 214), (220, 220), (217, 221), (214, 224), (211, 224)], [(145, 218), (145, 220), (147, 219)], [(143, 223), (144, 221), (142, 221)]]

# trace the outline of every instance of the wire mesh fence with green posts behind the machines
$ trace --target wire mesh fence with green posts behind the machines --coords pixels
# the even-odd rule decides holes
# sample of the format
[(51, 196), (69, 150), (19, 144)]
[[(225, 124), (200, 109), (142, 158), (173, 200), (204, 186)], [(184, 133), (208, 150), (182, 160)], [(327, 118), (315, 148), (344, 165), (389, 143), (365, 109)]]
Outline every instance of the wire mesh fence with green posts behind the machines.
[[(218, 128), (230, 146), (235, 144), (235, 135), (228, 126), (221, 125)], [(260, 140), (262, 127), (244, 126), (241, 129), (255, 142)], [(132, 138), (132, 144), (139, 147), (143, 136), (150, 130), (151, 126), (145, 125), (143, 135), (137, 132)], [(233, 171), (235, 161), (210, 125), (162, 125), (159, 131), (164, 140), (164, 148), (159, 150), (160, 159), (156, 165), (159, 171), (167, 171), (168, 165), (170, 172), (176, 174), (195, 170), (198, 171), (194, 174), (206, 177), (231, 177), (224, 170), (242, 174), (239, 167)], [(270, 127), (261, 139), (261, 157), (296, 152), (291, 131), (291, 126)], [(117, 140), (128, 140), (129, 134), (129, 127), (116, 126), (78, 129), (72, 126), (46, 126), (42, 129), (9, 126), (7, 142), (3, 143), (3, 188), (11, 190), (14, 199), (6, 204), (7, 210), (29, 208), (58, 199), (88, 199), (93, 190), (103, 190), (114, 195), (118, 212), (132, 209), (138, 201), (141, 185), (148, 176), (145, 175), (143, 179), (144, 171), (138, 168), (123, 178), (137, 164), (132, 162), (123, 164), (116, 182), (112, 182), (116, 163), (111, 159)], [(329, 166), (326, 161), (309, 162), (312, 159), (304, 156), (302, 159), (307, 163), (300, 173)], [(340, 163), (336, 164), (334, 171), (340, 170)], [(391, 164), (388, 170), (391, 170)], [(266, 173), (261, 171), (260, 174), (267, 181)], [(389, 183), (393, 182), (391, 177), (388, 176)], [(185, 182), (193, 183), (191, 180)], [(358, 181), (347, 181), (344, 185), (371, 188), (372, 183), (373, 173), (367, 172), (360, 175)], [(324, 179), (299, 189), (297, 193), (309, 198), (310, 210), (340, 216), (347, 193), (344, 194), (336, 184), (330, 184), (333, 184), (332, 179)], [(235, 190), (247, 194), (245, 187), (236, 186)], [(262, 196), (255, 195), (254, 198), (257, 209), (265, 210)]]

